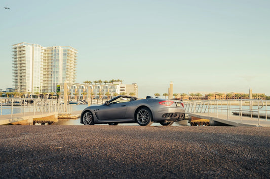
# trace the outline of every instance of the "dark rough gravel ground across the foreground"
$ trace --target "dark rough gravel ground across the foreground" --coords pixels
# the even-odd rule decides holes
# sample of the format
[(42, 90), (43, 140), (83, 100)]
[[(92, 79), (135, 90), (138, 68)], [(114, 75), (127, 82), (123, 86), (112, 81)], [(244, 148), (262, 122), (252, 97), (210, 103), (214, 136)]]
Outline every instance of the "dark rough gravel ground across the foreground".
[(270, 128), (0, 126), (0, 178), (269, 178)]

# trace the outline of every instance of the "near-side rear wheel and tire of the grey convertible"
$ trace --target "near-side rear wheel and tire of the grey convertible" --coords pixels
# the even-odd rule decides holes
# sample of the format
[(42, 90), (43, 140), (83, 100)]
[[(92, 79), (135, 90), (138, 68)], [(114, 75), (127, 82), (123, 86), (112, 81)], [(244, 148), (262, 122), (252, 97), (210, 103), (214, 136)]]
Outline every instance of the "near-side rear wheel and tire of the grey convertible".
[(147, 107), (142, 107), (136, 112), (136, 122), (140, 126), (150, 126), (153, 124), (152, 121), (152, 113), (149, 108)]

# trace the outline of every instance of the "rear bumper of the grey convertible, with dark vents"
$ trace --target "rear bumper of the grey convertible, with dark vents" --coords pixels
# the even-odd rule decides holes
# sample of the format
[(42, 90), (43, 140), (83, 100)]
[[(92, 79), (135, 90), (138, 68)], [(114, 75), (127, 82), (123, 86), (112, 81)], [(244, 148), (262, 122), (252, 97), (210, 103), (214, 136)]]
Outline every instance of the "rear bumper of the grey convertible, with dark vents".
[(158, 111), (153, 112), (153, 122), (176, 122), (182, 121), (184, 118), (185, 109), (182, 108), (162, 108)]

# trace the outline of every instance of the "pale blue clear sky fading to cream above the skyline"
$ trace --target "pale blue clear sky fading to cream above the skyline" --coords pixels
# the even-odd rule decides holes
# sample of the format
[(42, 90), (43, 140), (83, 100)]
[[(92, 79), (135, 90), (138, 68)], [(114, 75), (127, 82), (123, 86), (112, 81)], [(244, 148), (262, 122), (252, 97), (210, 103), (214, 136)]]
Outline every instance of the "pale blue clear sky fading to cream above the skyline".
[[(12, 45), (78, 49), (77, 83), (121, 79), (138, 96), (270, 95), (270, 1), (0, 2), (0, 88), (14, 87)], [(9, 7), (10, 10), (4, 9)]]

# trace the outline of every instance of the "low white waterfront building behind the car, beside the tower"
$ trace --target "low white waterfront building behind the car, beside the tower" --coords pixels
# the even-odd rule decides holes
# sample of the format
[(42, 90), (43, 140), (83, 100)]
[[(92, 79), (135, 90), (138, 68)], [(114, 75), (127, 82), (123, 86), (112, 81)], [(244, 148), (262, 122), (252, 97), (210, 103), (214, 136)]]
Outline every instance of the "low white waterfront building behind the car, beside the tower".
[[(111, 84), (79, 84), (67, 83), (67, 93), (69, 98), (86, 99), (88, 96), (88, 89), (93, 99), (111, 99), (121, 93), (130, 95), (134, 93), (138, 97), (138, 86), (136, 83), (122, 84), (122, 82), (112, 82)], [(63, 98), (64, 83), (60, 84), (60, 97)]]

